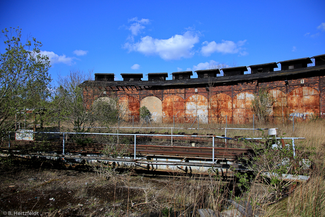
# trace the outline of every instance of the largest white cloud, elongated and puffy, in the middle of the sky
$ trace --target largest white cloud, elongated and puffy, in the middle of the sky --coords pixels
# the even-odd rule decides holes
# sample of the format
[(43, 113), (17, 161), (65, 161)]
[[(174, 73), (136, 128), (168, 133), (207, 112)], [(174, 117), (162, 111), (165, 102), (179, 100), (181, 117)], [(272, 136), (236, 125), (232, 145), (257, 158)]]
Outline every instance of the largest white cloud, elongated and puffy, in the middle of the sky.
[(168, 39), (157, 39), (145, 36), (136, 43), (125, 43), (124, 48), (138, 51), (145, 55), (158, 55), (163, 60), (178, 60), (194, 55), (192, 48), (199, 42), (199, 36), (187, 31), (183, 35), (175, 34)]

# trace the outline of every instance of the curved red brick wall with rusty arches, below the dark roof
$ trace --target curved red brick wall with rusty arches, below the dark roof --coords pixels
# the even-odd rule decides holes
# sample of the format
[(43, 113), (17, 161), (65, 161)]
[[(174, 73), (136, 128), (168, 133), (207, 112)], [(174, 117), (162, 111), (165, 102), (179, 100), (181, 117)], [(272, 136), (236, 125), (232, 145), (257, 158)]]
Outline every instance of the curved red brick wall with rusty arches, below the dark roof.
[[(301, 84), (301, 79), (304, 79), (304, 84)], [(267, 89), (275, 100), (272, 113), (274, 116), (289, 114), (300, 117), (325, 112), (324, 76), (288, 78), (288, 85), (285, 84), (284, 80), (283, 78), (282, 80), (263, 81), (261, 83), (251, 81), (236, 82), (232, 85), (214, 85), (209, 87), (208, 91), (201, 86), (197, 88), (198, 92), (195, 92), (194, 87), (168, 88), (158, 86), (146, 90), (136, 90), (135, 88), (124, 88), (123, 90), (119, 88), (114, 90), (116, 92), (113, 94), (120, 99), (122, 104), (127, 105), (128, 109), (125, 109), (127, 114), (138, 115), (137, 110), (141, 104), (141, 106), (148, 107), (150, 112), (157, 114), (157, 116), (161, 114), (164, 117), (163, 122), (173, 122), (173, 116), (175, 116), (175, 122), (189, 121), (197, 115), (205, 117), (208, 115), (208, 121), (212, 123), (224, 123), (225, 117), (218, 116), (225, 115), (227, 115), (228, 123), (242, 121), (242, 118), (251, 121), (253, 94), (257, 94), (261, 88)], [(102, 94), (96, 94), (96, 91), (90, 96), (90, 90), (84, 90), (84, 102), (89, 104), (98, 97), (103, 97)], [(162, 105), (161, 108), (159, 103)], [(185, 120), (185, 116), (189, 116), (189, 118)], [(323, 116), (325, 117), (325, 115)]]

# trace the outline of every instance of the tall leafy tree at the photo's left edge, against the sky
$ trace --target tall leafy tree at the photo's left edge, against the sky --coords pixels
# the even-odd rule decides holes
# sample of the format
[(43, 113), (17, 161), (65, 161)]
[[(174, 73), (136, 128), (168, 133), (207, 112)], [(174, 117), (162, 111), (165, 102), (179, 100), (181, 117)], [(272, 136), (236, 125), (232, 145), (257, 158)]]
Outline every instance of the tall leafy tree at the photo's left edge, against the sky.
[[(50, 62), (40, 54), (41, 42), (28, 37), (21, 42), (21, 29), (2, 30), (5, 52), (0, 54), (0, 134), (14, 130), (27, 108), (44, 108), (50, 96)], [(37, 109), (34, 110), (37, 112)]]

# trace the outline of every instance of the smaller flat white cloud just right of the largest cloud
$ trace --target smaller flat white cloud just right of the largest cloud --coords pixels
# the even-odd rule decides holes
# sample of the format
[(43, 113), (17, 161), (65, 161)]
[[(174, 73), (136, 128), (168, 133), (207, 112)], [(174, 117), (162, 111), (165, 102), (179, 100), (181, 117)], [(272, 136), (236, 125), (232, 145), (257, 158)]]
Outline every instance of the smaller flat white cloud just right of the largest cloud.
[(215, 41), (208, 42), (204, 41), (202, 43), (203, 47), (201, 48), (201, 53), (203, 56), (210, 56), (214, 52), (223, 53), (223, 54), (235, 54), (240, 53), (240, 55), (244, 56), (248, 53), (246, 51), (240, 52), (245, 48), (242, 47), (247, 40), (238, 41), (237, 43), (233, 41), (225, 41), (222, 40), (221, 43), (216, 43)]

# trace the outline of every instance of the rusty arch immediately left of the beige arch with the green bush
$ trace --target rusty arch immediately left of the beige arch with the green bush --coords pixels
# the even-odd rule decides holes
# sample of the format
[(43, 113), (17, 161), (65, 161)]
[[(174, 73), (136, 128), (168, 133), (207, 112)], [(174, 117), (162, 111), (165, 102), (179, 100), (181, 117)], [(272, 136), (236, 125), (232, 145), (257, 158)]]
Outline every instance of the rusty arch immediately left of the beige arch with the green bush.
[(122, 118), (126, 121), (133, 119), (138, 121), (139, 120), (139, 108), (140, 103), (133, 96), (123, 96), (119, 99), (119, 109), (122, 113)]

